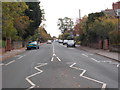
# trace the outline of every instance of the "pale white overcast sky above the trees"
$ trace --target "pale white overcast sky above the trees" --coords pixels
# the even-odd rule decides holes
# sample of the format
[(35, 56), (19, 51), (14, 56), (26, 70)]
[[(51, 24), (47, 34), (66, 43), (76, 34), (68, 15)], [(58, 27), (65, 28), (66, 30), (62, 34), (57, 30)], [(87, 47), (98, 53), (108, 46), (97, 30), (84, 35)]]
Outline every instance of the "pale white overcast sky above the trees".
[(75, 22), (79, 18), (89, 13), (100, 12), (105, 9), (112, 9), (112, 3), (119, 0), (39, 0), (41, 9), (45, 11), (45, 29), (51, 36), (58, 36), (60, 30), (57, 22), (59, 18), (69, 17)]

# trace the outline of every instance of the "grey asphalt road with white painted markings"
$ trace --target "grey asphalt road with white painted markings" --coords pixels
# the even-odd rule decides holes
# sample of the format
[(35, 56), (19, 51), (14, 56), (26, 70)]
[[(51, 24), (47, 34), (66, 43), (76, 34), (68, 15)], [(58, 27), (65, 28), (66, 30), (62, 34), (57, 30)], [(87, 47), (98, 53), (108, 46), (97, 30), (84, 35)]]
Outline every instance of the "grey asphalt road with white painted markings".
[[(3, 88), (116, 88), (116, 61), (54, 42), (5, 60)], [(119, 84), (120, 85), (120, 84)], [(3, 89), (4, 90), (4, 89)]]

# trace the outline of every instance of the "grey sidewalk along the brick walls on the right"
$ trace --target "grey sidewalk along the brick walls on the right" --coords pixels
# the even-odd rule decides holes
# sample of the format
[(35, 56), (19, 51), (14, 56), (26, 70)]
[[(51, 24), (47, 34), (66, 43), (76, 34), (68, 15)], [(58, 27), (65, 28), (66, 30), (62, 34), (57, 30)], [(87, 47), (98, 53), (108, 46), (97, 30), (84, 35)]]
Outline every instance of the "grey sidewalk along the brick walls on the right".
[(110, 58), (113, 60), (120, 61), (119, 57), (118, 57), (120, 55), (120, 53), (117, 53), (117, 52), (109, 52), (109, 50), (94, 49), (94, 48), (85, 47), (85, 46), (79, 46), (77, 48), (80, 48), (82, 50), (85, 50), (85, 51), (88, 51), (91, 53), (95, 53), (95, 54), (98, 54), (98, 55), (101, 55), (101, 56), (104, 56), (104, 57), (107, 57), (107, 58)]

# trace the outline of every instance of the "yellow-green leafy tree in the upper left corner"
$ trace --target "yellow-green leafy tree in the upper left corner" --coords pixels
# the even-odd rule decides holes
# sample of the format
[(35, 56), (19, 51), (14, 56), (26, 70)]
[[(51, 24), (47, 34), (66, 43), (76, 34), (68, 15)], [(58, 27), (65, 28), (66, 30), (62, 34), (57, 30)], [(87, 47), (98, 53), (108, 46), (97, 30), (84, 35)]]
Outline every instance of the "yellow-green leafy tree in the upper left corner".
[(2, 36), (4, 39), (15, 39), (17, 30), (14, 27), (14, 20), (24, 15), (27, 6), (24, 2), (3, 2), (2, 3)]

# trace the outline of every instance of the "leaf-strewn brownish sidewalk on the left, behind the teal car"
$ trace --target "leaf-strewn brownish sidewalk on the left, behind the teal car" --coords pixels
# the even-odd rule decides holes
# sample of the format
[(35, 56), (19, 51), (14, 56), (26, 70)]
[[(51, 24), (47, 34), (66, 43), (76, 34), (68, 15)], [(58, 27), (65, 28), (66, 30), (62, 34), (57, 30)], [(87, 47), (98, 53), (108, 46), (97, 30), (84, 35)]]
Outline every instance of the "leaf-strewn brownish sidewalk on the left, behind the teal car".
[(18, 55), (24, 51), (25, 51), (25, 48), (20, 48), (20, 49), (14, 49), (14, 50), (8, 51), (6, 53), (2, 53), (2, 50), (0, 49), (0, 61), (3, 61), (5, 59)]

